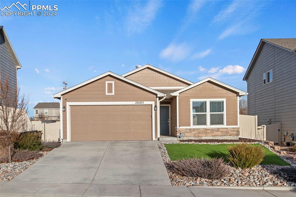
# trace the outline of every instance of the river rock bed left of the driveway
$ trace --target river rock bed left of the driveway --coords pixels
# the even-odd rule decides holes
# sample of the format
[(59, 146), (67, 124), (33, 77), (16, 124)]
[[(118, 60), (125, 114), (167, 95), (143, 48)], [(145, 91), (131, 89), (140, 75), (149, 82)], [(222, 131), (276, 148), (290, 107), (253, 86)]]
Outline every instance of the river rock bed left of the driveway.
[[(48, 153), (48, 151), (43, 151), (43, 156)], [(41, 158), (41, 157), (40, 157)], [(11, 162), (11, 163), (1, 163), (0, 164), (0, 182), (10, 181), (18, 174), (23, 172), (25, 169), (30, 167), (32, 164), (37, 162), (38, 159), (31, 159), (25, 162)]]

